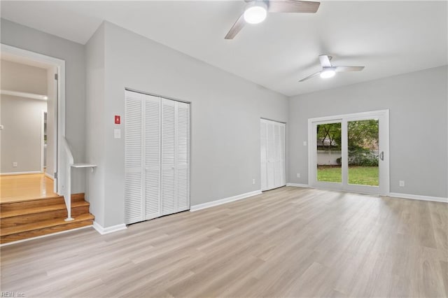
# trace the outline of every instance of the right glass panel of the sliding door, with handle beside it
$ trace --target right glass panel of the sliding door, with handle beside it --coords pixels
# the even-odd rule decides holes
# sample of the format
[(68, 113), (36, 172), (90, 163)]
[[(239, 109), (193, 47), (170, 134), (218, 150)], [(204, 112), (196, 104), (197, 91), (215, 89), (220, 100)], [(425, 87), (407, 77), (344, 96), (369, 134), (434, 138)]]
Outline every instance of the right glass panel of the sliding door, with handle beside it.
[(378, 119), (347, 122), (348, 183), (378, 186)]

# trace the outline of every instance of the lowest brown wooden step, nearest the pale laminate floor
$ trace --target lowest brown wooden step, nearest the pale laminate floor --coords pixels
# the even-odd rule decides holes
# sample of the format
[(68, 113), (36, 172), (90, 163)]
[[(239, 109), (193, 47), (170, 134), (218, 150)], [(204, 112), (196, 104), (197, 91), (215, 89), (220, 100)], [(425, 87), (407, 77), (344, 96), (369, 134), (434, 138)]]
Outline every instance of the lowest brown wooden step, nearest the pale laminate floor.
[[(93, 216), (92, 216), (93, 218)], [(13, 241), (19, 241), (23, 239), (29, 239), (32, 237), (48, 235), (52, 233), (68, 231), (70, 229), (76, 229), (78, 227), (86, 227), (93, 224), (93, 220), (72, 220), (64, 225), (56, 225), (52, 227), (45, 227), (43, 229), (34, 229), (28, 232), (21, 232), (17, 234), (10, 234), (1, 236), (0, 243), (8, 243)]]

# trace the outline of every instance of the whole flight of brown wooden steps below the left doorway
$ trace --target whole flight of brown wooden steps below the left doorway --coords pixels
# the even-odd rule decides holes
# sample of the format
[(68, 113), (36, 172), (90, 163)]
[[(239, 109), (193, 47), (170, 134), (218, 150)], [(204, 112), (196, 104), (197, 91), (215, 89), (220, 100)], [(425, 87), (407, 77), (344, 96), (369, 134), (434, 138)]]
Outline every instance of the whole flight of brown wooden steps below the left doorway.
[(94, 216), (89, 206), (84, 194), (72, 194), (73, 220), (65, 221), (67, 211), (62, 196), (3, 203), (0, 206), (0, 243), (91, 226)]

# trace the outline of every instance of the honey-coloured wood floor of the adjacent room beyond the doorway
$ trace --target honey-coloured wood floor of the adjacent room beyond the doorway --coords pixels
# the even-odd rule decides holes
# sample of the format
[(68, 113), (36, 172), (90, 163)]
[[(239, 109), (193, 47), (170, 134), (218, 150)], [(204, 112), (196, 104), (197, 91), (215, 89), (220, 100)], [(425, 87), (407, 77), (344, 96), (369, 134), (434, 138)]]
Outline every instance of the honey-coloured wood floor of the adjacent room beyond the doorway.
[(53, 180), (43, 173), (0, 176), (0, 203), (57, 197)]

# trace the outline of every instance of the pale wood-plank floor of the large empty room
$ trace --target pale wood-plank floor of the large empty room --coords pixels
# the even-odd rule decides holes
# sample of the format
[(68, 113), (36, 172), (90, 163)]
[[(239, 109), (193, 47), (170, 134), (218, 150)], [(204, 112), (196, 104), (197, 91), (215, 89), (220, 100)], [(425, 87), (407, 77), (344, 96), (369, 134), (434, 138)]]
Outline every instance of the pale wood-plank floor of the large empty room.
[(447, 297), (448, 204), (282, 187), (1, 248), (25, 297)]

